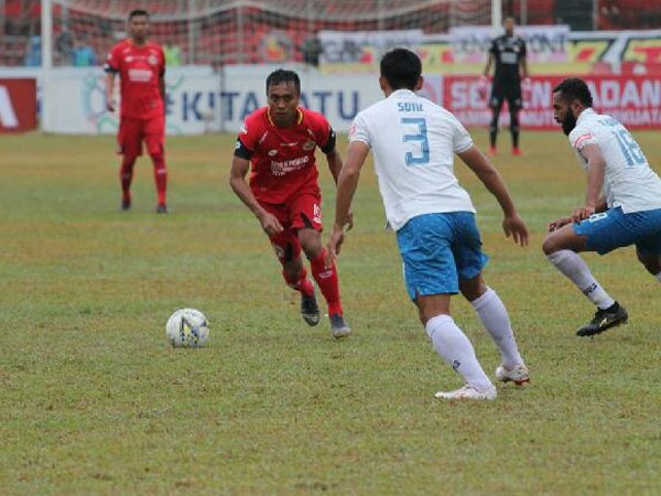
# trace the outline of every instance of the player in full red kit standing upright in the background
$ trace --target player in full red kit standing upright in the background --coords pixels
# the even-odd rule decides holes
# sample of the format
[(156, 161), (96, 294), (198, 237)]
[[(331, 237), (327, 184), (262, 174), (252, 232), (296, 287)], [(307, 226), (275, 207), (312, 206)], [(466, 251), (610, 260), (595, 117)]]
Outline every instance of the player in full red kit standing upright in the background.
[(121, 208), (131, 208), (131, 181), (136, 159), (142, 154), (142, 141), (154, 164), (159, 204), (156, 212), (166, 214), (165, 187), (165, 56), (163, 48), (148, 41), (149, 13), (133, 10), (129, 14), (129, 37), (112, 47), (106, 62), (106, 106), (115, 111), (112, 100), (115, 76), (119, 74), (121, 90), (120, 125), (117, 134), (119, 153), (123, 155), (119, 177)]

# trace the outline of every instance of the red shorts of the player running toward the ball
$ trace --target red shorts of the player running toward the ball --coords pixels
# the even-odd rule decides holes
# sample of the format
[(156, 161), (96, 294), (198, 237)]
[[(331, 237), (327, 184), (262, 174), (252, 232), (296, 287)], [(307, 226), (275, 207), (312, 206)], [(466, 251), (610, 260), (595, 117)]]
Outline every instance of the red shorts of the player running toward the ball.
[(274, 215), (284, 228), (282, 233), (269, 237), (281, 262), (293, 260), (301, 255), (299, 229), (323, 229), (322, 196), (318, 192), (301, 192), (286, 203), (260, 204), (269, 214)]

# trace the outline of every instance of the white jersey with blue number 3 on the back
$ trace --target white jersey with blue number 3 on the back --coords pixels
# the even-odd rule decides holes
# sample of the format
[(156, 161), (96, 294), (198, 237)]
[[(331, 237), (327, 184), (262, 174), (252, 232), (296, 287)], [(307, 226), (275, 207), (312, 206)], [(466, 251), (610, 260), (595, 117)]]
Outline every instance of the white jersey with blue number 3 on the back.
[(371, 148), (386, 217), (394, 230), (418, 215), (475, 212), (454, 174), (454, 154), (468, 150), (473, 140), (436, 104), (399, 89), (356, 116), (349, 141)]

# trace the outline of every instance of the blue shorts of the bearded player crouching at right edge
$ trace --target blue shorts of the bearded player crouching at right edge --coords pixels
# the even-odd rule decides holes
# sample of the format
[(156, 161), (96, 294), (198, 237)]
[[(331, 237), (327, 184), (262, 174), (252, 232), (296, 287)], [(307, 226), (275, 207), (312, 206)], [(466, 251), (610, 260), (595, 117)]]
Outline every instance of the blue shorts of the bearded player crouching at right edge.
[(594, 214), (573, 225), (586, 247), (599, 255), (636, 245), (644, 255), (661, 255), (661, 208), (625, 214), (620, 207)]

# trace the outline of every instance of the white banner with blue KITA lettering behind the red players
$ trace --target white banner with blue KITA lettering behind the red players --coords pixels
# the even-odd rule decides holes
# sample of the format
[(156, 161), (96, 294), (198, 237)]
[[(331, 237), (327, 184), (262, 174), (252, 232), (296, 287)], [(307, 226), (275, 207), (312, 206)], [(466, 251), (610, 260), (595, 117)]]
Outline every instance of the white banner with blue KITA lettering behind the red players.
[[(301, 104), (324, 114), (335, 130), (346, 132), (358, 111), (382, 97), (373, 75), (324, 76), (304, 67)], [(266, 78), (271, 66), (169, 69), (165, 75), (167, 134), (238, 132), (247, 115), (267, 105)], [(117, 112), (106, 110), (105, 74), (88, 68), (54, 69), (46, 106), (45, 131), (72, 134), (115, 133)], [(119, 85), (118, 85), (119, 86)], [(430, 88), (435, 90), (435, 88)], [(119, 100), (119, 98), (118, 98)]]

